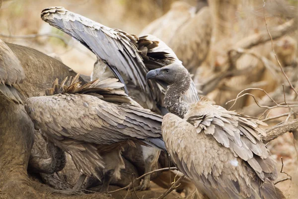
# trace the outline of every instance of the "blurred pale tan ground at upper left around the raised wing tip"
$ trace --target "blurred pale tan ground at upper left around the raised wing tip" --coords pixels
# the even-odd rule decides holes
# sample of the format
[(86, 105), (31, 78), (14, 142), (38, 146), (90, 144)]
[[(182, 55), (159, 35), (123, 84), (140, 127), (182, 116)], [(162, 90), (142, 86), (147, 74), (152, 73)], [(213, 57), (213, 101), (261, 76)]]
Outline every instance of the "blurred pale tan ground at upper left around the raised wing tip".
[[(56, 53), (76, 72), (90, 75), (95, 56), (70, 36), (50, 26), (40, 18), (49, 6), (63, 6), (108, 27), (138, 35), (154, 19), (169, 10), (175, 0), (4, 0), (0, 12), (1, 39), (30, 46), (46, 54)], [(186, 0), (192, 5), (196, 0)], [(53, 33), (56, 37), (9, 38), (5, 35)], [(66, 43), (67, 45), (66, 45)]]

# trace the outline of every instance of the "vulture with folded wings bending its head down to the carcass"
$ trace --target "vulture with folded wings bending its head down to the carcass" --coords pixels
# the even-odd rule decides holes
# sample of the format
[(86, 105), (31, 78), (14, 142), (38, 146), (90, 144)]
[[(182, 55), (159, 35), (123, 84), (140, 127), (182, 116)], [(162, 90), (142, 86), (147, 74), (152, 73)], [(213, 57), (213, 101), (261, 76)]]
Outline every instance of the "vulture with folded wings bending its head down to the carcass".
[(117, 90), (124, 86), (118, 79), (96, 79), (81, 85), (78, 77), (66, 78), (61, 84), (57, 79), (46, 96), (28, 98), (25, 109), (35, 128), (53, 146), (69, 153), (82, 173), (73, 190), (57, 192), (73, 194), (86, 176), (102, 180), (101, 191), (107, 192), (111, 178), (121, 178), (124, 144), (164, 149), (162, 116)]

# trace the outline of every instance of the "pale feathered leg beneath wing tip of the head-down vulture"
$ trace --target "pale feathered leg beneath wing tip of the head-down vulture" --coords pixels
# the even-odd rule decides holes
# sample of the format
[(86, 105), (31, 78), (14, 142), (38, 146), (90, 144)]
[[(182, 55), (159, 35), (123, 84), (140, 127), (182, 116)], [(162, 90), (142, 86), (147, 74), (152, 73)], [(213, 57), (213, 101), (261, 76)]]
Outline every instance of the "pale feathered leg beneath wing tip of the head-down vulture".
[[(152, 171), (153, 166), (158, 161), (160, 151), (156, 148), (142, 146), (143, 158), (145, 160), (145, 174)], [(149, 190), (150, 175), (144, 177), (142, 184), (136, 190)]]

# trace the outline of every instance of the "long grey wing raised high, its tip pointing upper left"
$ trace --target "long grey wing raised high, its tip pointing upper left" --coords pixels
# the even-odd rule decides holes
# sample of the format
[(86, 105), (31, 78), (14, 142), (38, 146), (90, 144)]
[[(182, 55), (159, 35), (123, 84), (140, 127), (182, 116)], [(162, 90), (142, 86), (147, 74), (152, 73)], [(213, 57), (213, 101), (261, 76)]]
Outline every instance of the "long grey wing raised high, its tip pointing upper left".
[(50, 25), (73, 36), (81, 44), (102, 59), (115, 76), (124, 83), (120, 73), (149, 93), (146, 84), (146, 67), (137, 47), (137, 37), (121, 30), (109, 28), (64, 7), (49, 7), (41, 17)]

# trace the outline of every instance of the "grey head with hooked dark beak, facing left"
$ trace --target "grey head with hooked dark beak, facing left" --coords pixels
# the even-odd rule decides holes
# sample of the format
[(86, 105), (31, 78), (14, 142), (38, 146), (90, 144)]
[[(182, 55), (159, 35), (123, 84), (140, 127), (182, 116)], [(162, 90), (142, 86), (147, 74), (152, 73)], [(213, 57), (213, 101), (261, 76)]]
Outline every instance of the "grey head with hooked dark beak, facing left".
[(186, 80), (185, 77), (190, 78), (190, 75), (187, 69), (180, 64), (170, 64), (159, 69), (151, 70), (146, 75), (147, 80), (160, 80), (169, 85), (182, 83)]

